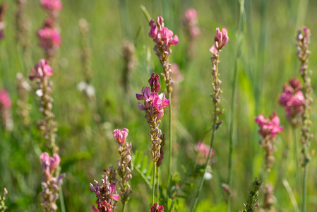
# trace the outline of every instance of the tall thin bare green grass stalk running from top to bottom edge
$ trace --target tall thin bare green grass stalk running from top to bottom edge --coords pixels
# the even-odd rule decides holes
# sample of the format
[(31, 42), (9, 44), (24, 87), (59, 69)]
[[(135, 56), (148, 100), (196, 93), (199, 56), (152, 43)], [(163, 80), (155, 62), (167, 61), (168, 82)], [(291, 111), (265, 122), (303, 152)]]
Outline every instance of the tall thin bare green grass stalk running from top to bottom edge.
[[(238, 42), (237, 42), (237, 55), (234, 63), (234, 79), (232, 82), (232, 107), (231, 107), (231, 120), (230, 120), (230, 129), (229, 129), (229, 165), (228, 165), (228, 182), (229, 188), (232, 189), (232, 153), (234, 147), (234, 114), (235, 114), (235, 106), (236, 106), (236, 93), (237, 93), (237, 74), (239, 68), (239, 61), (241, 57), (242, 47), (244, 43), (244, 33), (245, 33), (245, 23), (246, 16), (244, 11), (244, 0), (240, 0), (240, 21), (239, 21), (239, 29), (237, 32)], [(231, 196), (227, 199), (227, 211), (231, 211)]]

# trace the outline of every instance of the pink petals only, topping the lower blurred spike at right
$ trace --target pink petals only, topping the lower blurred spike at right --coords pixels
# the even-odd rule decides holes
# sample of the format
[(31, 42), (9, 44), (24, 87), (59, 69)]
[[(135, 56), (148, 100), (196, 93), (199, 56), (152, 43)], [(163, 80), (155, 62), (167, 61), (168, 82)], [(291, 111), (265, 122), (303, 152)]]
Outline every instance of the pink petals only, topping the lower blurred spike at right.
[(280, 133), (283, 129), (283, 126), (280, 125), (280, 118), (277, 117), (276, 112), (273, 112), (269, 118), (263, 117), (263, 114), (260, 114), (255, 118), (256, 123), (260, 126), (259, 134), (263, 139), (273, 139), (277, 136), (277, 133)]

